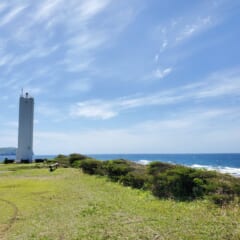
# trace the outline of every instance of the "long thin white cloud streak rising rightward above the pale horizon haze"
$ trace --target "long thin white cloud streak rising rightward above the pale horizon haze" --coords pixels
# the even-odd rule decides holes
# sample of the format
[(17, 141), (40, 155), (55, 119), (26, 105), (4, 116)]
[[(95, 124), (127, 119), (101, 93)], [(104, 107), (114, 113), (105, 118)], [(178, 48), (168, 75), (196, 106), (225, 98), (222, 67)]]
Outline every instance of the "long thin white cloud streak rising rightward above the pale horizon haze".
[[(221, 77), (221, 78), (220, 78)], [(238, 96), (240, 92), (240, 72), (226, 71), (212, 74), (198, 84), (184, 85), (176, 89), (156, 92), (150, 95), (129, 96), (110, 101), (91, 100), (71, 107), (71, 116), (94, 119), (110, 119), (127, 109), (145, 106), (166, 106), (182, 102), (202, 101), (227, 96)]]

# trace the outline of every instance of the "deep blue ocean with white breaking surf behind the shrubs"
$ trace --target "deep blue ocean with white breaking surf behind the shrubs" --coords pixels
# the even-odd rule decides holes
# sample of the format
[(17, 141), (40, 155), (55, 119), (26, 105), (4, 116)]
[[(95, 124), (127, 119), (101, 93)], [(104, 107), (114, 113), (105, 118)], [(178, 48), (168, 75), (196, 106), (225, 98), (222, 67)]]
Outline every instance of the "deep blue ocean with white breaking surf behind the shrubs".
[[(194, 168), (204, 168), (228, 173), (240, 177), (240, 153), (214, 154), (86, 154), (98, 160), (123, 158), (141, 164), (152, 161), (162, 161), (172, 164), (181, 164)], [(36, 155), (35, 158), (53, 159), (56, 155)], [(15, 156), (0, 156), (0, 162), (5, 157), (15, 159)]]

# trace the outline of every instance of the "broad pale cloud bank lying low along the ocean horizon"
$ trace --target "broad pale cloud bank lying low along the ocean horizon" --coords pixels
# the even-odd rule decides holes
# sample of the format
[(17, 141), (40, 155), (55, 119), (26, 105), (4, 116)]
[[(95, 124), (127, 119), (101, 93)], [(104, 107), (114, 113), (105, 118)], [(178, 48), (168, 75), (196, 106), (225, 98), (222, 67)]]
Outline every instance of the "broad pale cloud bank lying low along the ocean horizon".
[[(38, 131), (36, 152), (139, 153), (139, 149), (145, 153), (237, 152), (239, 121), (232, 123), (226, 117), (236, 110), (194, 109), (125, 128), (91, 128), (70, 133)], [(239, 115), (234, 117), (239, 119)], [(84, 141), (79, 141), (80, 138)]]

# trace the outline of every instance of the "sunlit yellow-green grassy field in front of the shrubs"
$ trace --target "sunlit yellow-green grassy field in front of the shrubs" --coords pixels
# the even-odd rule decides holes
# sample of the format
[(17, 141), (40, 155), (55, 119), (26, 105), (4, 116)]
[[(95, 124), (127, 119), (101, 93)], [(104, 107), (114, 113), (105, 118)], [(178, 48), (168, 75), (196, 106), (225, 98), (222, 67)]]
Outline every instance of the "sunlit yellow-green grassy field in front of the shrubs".
[(0, 239), (240, 239), (239, 206), (175, 202), (78, 169), (0, 164)]

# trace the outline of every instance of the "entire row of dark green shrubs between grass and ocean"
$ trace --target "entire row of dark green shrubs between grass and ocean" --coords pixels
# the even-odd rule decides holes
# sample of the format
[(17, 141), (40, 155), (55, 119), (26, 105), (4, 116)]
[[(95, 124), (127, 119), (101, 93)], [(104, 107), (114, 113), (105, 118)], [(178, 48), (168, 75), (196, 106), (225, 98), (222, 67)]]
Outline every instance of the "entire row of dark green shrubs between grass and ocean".
[(59, 155), (62, 166), (80, 167), (84, 173), (107, 176), (124, 186), (150, 190), (159, 198), (181, 201), (209, 198), (224, 205), (238, 200), (240, 179), (215, 171), (152, 162), (146, 166), (124, 159), (99, 161), (81, 154)]

